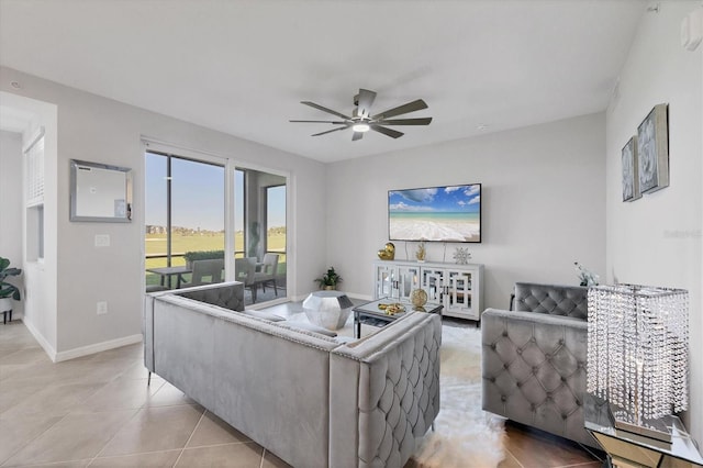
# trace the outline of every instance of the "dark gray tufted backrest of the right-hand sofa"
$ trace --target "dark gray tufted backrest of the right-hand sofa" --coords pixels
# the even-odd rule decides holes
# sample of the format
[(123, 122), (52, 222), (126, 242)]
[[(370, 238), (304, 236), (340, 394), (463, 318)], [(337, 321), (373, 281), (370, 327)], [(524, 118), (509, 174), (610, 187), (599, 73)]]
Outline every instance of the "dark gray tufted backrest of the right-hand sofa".
[(581, 286), (515, 283), (515, 310), (588, 319), (589, 289)]

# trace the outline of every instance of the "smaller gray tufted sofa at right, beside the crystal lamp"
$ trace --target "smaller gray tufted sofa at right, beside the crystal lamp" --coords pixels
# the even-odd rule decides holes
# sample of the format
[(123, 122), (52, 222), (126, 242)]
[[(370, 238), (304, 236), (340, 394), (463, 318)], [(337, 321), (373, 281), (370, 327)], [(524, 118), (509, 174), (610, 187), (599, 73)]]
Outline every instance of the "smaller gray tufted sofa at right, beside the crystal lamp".
[(481, 315), (483, 410), (598, 447), (583, 428), (588, 288), (515, 285)]

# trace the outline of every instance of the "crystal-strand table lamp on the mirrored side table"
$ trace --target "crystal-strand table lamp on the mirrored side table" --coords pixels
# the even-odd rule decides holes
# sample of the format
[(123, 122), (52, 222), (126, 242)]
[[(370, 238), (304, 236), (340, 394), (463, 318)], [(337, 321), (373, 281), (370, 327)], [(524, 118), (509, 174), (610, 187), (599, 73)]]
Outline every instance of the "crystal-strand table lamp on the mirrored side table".
[(617, 428), (671, 442), (658, 420), (689, 406), (689, 292), (615, 285), (588, 298), (589, 393)]

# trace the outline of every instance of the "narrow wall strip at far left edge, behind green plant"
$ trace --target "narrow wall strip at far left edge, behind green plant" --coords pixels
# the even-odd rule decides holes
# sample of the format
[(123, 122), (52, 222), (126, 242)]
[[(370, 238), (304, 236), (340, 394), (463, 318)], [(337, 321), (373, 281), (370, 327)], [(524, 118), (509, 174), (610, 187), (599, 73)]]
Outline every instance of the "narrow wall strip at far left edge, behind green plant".
[[(22, 267), (22, 204), (13, 201), (22, 194), (22, 179), (13, 174), (21, 172), (22, 134), (0, 131), (0, 256), (9, 258), (15, 268)], [(9, 278), (8, 281), (23, 289), (22, 277)], [(23, 311), (24, 302), (15, 302), (12, 319), (21, 319)]]

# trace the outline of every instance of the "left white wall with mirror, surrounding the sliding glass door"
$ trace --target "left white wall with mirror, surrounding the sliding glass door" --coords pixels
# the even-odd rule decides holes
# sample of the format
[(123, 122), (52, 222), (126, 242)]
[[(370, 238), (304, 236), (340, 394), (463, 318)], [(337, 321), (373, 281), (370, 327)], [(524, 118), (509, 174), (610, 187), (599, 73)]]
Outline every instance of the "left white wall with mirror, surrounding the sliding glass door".
[[(57, 203), (57, 229), (47, 233), (58, 243), (57, 345), (59, 359), (97, 350), (141, 336), (144, 292), (144, 155), (142, 136), (175, 146), (235, 159), (246, 167), (291, 174), (294, 202), (289, 224), (291, 258), (297, 258), (291, 296), (311, 287), (295, 278), (314, 278), (324, 252), (324, 230), (309, 230), (323, 211), (324, 166), (309, 158), (239, 140), (165, 115), (100, 98), (20, 71), (0, 68), (0, 89), (58, 107), (58, 156), (47, 198)], [(10, 87), (18, 81), (22, 89)], [(134, 170), (134, 222), (130, 224), (68, 221), (69, 159), (131, 167)], [(51, 178), (51, 176), (49, 176)], [(110, 247), (94, 247), (96, 234), (109, 234)], [(96, 314), (96, 302), (108, 301), (109, 313)]]

